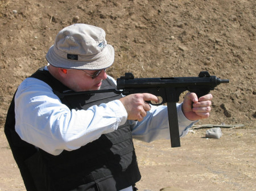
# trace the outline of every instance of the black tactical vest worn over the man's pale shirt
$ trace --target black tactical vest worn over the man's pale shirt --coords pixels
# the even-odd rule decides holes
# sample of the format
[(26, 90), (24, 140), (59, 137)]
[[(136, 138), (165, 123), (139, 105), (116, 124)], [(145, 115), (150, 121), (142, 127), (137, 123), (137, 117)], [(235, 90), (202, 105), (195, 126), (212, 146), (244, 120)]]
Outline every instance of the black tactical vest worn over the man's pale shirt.
[[(53, 92), (68, 91), (46, 70), (38, 70), (31, 77), (49, 84)], [(114, 87), (111, 80), (102, 81), (101, 89)], [(121, 95), (108, 92), (59, 97), (69, 109), (88, 109), (119, 99)], [(7, 113), (5, 134), (28, 191), (115, 191), (141, 179), (127, 122), (77, 150), (64, 150), (55, 156), (20, 139), (15, 131), (13, 99)]]

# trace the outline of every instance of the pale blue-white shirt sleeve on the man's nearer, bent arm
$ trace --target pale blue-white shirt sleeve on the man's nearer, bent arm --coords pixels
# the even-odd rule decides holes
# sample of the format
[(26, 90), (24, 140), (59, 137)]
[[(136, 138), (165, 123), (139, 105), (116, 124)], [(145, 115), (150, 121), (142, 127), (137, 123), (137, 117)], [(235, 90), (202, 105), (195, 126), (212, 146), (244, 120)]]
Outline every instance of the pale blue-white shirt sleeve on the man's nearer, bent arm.
[(127, 112), (114, 100), (70, 110), (42, 80), (27, 78), (15, 95), (15, 130), (20, 138), (53, 155), (75, 150), (125, 124)]

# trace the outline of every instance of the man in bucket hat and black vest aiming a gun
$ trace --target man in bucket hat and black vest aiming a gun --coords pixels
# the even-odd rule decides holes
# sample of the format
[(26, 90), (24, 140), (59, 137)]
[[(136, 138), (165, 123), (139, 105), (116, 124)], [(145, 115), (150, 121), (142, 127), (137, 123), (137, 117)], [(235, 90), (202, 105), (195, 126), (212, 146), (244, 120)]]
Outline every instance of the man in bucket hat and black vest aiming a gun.
[[(103, 29), (62, 29), (46, 55), (48, 66), (18, 87), (5, 133), (27, 190), (131, 191), (141, 179), (134, 138), (170, 138), (166, 106), (151, 94), (69, 95), (115, 87), (106, 74), (114, 49)], [(209, 117), (212, 95), (185, 95), (177, 105), (180, 136)], [(193, 107), (192, 107), (193, 106)]]

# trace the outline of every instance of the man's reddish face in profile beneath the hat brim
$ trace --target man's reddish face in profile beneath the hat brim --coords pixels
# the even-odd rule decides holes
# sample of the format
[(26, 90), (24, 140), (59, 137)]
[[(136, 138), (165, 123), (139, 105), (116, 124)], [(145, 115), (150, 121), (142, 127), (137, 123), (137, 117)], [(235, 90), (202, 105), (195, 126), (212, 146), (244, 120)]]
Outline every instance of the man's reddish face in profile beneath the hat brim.
[(90, 75), (96, 74), (98, 70), (76, 70), (68, 69), (65, 84), (74, 91), (99, 90), (102, 80), (107, 78), (105, 70), (102, 70), (97, 77)]

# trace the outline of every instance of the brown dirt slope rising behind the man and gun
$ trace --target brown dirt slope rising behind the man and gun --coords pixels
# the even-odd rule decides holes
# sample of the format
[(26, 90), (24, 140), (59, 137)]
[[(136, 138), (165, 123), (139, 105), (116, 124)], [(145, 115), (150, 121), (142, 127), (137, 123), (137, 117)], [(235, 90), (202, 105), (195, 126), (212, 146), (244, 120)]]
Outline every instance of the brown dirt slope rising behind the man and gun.
[(255, 123), (254, 1), (1, 1), (1, 126), (18, 84), (47, 64), (57, 32), (75, 22), (105, 29), (113, 77), (207, 70), (230, 83), (212, 91), (212, 117), (201, 122)]

